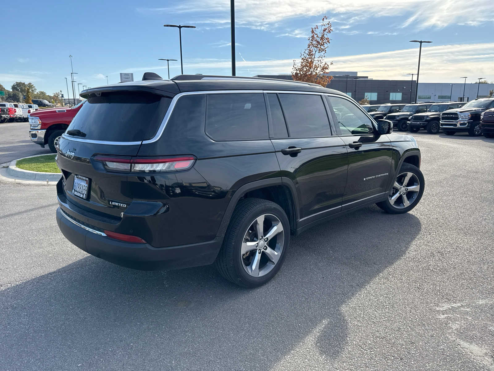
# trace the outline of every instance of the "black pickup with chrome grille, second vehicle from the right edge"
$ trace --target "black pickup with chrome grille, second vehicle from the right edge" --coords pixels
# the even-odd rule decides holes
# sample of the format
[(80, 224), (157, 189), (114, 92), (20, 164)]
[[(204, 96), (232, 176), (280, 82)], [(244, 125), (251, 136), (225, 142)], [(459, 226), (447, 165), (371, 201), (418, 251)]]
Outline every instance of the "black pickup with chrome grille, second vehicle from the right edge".
[(482, 135), (480, 115), (489, 108), (494, 108), (494, 98), (470, 100), (461, 108), (444, 111), (441, 113), (441, 129), (446, 135), (468, 132), (470, 137), (479, 137)]

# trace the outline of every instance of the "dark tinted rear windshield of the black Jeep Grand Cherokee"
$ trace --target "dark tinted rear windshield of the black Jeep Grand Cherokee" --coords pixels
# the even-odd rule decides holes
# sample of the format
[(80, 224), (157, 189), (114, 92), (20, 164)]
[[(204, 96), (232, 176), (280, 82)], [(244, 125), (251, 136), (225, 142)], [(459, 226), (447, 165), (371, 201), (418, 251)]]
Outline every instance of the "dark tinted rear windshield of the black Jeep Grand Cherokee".
[(67, 134), (70, 130), (79, 130), (81, 133), (72, 136), (107, 141), (151, 139), (159, 129), (170, 101), (171, 98), (151, 93), (102, 93), (87, 99), (69, 125)]

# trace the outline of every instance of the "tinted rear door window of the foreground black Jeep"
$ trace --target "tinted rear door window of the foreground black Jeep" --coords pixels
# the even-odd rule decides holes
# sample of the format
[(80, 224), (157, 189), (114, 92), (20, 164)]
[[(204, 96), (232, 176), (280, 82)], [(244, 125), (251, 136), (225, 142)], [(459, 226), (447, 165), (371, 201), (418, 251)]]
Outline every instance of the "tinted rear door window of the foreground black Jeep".
[(279, 94), (290, 137), (329, 137), (328, 114), (321, 95)]

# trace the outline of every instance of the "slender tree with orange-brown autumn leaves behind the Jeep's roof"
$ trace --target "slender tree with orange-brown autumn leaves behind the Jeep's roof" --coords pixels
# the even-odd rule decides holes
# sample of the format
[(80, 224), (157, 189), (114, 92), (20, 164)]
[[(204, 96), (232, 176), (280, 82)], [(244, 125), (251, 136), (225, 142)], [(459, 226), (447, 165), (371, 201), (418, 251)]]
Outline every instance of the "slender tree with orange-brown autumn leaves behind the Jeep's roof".
[(331, 22), (328, 16), (323, 17), (321, 25), (311, 28), (311, 35), (308, 37), (308, 44), (305, 50), (300, 53), (300, 63), (293, 60), (291, 77), (295, 81), (319, 84), (323, 87), (329, 84), (332, 76), (329, 76), (329, 66), (333, 62), (326, 62), (326, 51), (331, 39)]

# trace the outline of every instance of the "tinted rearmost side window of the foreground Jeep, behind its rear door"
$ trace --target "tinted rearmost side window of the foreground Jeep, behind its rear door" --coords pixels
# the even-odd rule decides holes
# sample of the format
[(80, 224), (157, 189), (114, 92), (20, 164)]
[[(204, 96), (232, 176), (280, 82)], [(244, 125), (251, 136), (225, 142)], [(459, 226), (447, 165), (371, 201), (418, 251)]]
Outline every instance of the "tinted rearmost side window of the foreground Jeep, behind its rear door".
[(206, 106), (206, 133), (212, 139), (269, 138), (262, 93), (209, 94)]

